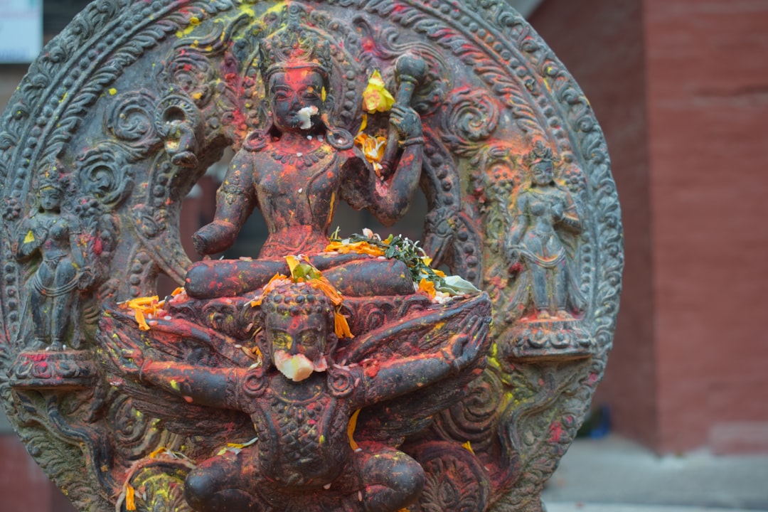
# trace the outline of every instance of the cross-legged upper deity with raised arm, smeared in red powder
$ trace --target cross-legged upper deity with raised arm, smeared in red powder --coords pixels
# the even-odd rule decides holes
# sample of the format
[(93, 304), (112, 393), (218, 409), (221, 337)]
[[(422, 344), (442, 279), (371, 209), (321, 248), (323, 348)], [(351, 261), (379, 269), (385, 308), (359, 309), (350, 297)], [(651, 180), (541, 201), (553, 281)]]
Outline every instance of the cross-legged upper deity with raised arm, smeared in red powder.
[[(190, 296), (240, 295), (263, 286), (277, 272), (285, 273), (286, 254), (322, 252), (339, 200), (358, 210), (367, 208), (389, 226), (406, 212), (419, 183), (422, 123), (407, 104), (395, 104), (389, 117), (401, 150), (386, 179), (377, 176), (353, 147), (348, 131), (331, 125), (326, 41), (290, 26), (262, 41), (261, 62), (269, 125), (250, 134), (234, 157), (217, 192), (214, 221), (194, 234), (194, 245), (204, 255), (229, 248), (254, 208), (263, 213), (270, 234), (257, 260), (204, 261), (193, 266), (186, 282)], [(356, 255), (314, 256), (311, 261), (318, 269), (327, 269), (326, 277), (346, 295), (413, 291), (397, 262)], [(374, 289), (361, 289), (360, 282), (369, 282)]]

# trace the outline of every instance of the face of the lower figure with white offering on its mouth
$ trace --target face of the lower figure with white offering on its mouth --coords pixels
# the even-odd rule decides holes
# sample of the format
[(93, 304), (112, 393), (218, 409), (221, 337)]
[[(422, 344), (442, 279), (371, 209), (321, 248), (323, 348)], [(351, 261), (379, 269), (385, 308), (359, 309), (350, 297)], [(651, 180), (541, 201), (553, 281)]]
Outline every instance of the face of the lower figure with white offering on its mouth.
[(266, 315), (266, 341), (276, 368), (300, 381), (327, 368), (325, 350), (328, 322), (320, 313)]

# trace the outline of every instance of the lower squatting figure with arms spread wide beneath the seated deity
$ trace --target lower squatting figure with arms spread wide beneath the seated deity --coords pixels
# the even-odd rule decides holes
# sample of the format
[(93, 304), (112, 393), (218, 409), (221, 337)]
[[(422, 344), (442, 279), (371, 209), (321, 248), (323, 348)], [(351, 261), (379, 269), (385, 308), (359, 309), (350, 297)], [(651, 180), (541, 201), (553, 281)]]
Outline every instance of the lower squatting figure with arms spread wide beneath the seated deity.
[[(190, 403), (247, 412), (257, 441), (197, 466), (184, 485), (195, 510), (262, 510), (298, 492), (336, 491), (343, 510), (392, 511), (422, 490), (424, 471), (408, 455), (361, 441), (347, 425), (356, 410), (456, 375), (482, 349), (487, 319), (468, 315), (460, 334), (435, 353), (390, 358), (377, 372), (334, 360), (333, 306), (306, 282), (269, 292), (261, 305), (266, 332), (257, 368), (207, 368), (144, 360), (125, 351), (118, 364), (142, 382)], [(113, 355), (114, 357), (114, 355)], [(310, 506), (310, 510), (314, 510)], [(334, 509), (336, 510), (336, 509)], [(340, 509), (339, 509), (340, 510)]]

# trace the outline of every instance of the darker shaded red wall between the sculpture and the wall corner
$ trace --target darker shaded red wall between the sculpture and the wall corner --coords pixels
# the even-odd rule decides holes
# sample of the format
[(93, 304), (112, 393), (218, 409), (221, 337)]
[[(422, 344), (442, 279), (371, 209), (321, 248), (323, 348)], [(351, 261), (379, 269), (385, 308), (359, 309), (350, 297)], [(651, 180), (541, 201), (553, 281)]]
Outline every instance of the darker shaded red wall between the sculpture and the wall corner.
[(545, 0), (531, 24), (584, 90), (611, 154), (624, 222), (624, 293), (595, 401), (618, 431), (657, 442), (645, 50), (641, 0)]

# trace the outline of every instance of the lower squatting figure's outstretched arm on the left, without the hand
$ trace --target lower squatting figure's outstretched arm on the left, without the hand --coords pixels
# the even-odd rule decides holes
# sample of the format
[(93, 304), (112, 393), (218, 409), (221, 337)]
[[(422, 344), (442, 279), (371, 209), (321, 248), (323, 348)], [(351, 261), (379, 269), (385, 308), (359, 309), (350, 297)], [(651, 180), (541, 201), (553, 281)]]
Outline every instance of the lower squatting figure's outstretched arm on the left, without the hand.
[(207, 368), (146, 360), (141, 364), (139, 378), (193, 404), (237, 409), (238, 390), (246, 373), (245, 368)]

